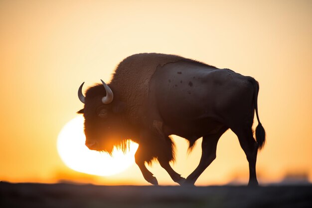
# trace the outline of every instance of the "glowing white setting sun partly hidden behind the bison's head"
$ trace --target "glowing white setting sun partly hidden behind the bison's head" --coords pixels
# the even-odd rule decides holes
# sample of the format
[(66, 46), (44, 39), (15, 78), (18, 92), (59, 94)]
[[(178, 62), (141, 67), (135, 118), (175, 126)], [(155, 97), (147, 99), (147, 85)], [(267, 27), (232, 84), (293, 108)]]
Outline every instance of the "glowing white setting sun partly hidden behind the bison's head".
[(70, 120), (61, 130), (57, 150), (63, 162), (71, 169), (92, 175), (111, 176), (126, 170), (134, 163), (138, 144), (131, 142), (125, 154), (114, 148), (112, 157), (103, 152), (89, 150), (85, 146), (83, 116)]

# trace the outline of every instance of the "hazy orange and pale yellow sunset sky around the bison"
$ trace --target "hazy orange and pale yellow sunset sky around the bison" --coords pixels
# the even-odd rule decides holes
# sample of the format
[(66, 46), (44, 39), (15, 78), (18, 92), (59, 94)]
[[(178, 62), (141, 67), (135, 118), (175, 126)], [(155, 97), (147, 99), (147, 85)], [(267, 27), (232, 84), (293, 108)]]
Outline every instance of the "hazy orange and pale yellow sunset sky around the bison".
[[(159, 52), (255, 77), (267, 132), (259, 181), (276, 182), (288, 172), (308, 172), (312, 181), (311, 22), (310, 0), (1, 0), (0, 180), (148, 185), (136, 165), (111, 177), (75, 173), (58, 156), (56, 141), (82, 107), (81, 82), (108, 82), (123, 58)], [(187, 177), (200, 143), (187, 156), (187, 142), (174, 141), (174, 169)], [(150, 170), (159, 184), (174, 184), (158, 164)], [(228, 131), (196, 184), (235, 176), (248, 177), (248, 162)]]

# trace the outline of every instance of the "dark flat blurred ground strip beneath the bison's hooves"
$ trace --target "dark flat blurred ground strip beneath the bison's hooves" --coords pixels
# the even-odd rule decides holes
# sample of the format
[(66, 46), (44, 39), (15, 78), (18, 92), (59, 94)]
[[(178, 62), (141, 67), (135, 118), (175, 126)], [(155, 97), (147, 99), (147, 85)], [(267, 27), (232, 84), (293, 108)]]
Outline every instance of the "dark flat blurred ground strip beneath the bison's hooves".
[(312, 186), (94, 186), (0, 182), (0, 208), (312, 208)]

